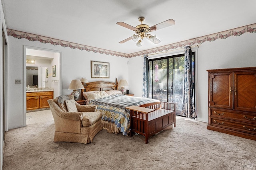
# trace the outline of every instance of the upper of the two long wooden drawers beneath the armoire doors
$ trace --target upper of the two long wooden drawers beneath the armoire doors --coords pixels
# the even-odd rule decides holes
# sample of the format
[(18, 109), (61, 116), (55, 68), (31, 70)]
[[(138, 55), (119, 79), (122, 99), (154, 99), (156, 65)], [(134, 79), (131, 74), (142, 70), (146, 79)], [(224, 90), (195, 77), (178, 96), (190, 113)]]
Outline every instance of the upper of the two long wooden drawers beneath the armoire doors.
[(239, 111), (227, 111), (227, 110), (210, 108), (210, 116), (233, 119), (236, 121), (243, 121), (243, 122), (256, 124), (256, 114), (252, 114), (252, 113), (245, 113), (245, 112), (239, 112)]

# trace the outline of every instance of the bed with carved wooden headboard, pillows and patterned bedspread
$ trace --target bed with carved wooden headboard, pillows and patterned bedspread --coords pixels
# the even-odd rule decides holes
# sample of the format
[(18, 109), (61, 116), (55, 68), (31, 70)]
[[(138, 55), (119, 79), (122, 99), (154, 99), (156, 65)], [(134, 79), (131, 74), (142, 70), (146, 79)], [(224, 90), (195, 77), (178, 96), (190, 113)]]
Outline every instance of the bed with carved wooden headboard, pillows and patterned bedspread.
[(118, 81), (89, 82), (84, 84), (82, 94), (86, 104), (96, 105), (102, 112), (102, 125), (109, 133), (130, 132), (130, 110), (125, 107), (141, 106), (151, 109), (160, 107), (160, 101), (150, 98), (139, 98), (120, 94)]

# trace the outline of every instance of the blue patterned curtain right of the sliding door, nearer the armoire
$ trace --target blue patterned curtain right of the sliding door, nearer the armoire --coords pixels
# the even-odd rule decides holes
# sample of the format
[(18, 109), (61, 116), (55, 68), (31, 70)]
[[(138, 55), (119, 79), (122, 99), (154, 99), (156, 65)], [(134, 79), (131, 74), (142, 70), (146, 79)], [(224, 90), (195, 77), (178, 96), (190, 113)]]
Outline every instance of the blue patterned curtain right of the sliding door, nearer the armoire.
[(184, 59), (184, 84), (183, 84), (183, 100), (182, 100), (182, 116), (196, 118), (196, 110), (194, 105), (194, 94), (192, 89), (192, 55), (191, 49), (187, 45), (185, 47)]

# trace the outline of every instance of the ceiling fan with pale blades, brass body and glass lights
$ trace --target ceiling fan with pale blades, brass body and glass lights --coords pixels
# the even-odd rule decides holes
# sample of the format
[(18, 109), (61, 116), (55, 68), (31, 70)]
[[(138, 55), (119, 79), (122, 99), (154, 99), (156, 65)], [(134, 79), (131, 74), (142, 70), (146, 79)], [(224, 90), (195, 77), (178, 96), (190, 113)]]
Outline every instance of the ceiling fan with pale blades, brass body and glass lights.
[(162, 29), (162, 28), (165, 28), (165, 27), (175, 25), (175, 21), (170, 19), (170, 20), (166, 20), (166, 21), (163, 21), (161, 23), (158, 23), (156, 25), (153, 25), (152, 27), (149, 27), (148, 25), (142, 23), (144, 20), (145, 20), (144, 17), (140, 17), (139, 21), (141, 22), (141, 24), (137, 25), (136, 27), (133, 27), (133, 26), (131, 26), (127, 23), (124, 23), (124, 22), (117, 22), (116, 24), (121, 25), (123, 27), (126, 27), (128, 29), (131, 29), (132, 31), (135, 31), (135, 33), (137, 34), (137, 35), (133, 34), (132, 37), (124, 39), (123, 41), (120, 41), (119, 43), (125, 43), (126, 41), (129, 41), (129, 40), (132, 39), (133, 41), (136, 42), (136, 45), (138, 47), (141, 47), (142, 46), (142, 40), (146, 37), (152, 43), (158, 44), (161, 41), (156, 38), (156, 35), (153, 36), (153, 35), (148, 34), (148, 33), (152, 32), (152, 31), (156, 31), (158, 29)]

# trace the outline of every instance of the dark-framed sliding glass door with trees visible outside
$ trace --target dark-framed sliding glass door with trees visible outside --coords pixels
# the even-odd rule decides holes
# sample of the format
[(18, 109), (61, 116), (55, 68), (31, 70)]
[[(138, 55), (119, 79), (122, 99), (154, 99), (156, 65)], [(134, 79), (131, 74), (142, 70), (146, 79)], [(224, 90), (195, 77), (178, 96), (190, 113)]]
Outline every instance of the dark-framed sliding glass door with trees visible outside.
[[(192, 53), (193, 84), (195, 80)], [(184, 54), (148, 60), (148, 96), (162, 102), (176, 103), (176, 114), (182, 109), (182, 89), (184, 76)], [(193, 86), (193, 89), (194, 86)]]

